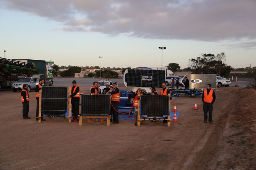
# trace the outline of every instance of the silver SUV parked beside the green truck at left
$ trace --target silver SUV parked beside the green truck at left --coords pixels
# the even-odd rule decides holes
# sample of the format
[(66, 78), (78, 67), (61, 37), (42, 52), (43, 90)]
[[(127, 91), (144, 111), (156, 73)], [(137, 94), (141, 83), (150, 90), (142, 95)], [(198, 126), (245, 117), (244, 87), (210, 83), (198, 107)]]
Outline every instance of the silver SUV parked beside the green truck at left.
[(21, 78), (17, 82), (11, 85), (13, 92), (17, 92), (18, 90), (23, 89), (23, 84), (28, 84), (28, 92), (36, 89), (36, 85), (39, 84), (40, 77), (26, 77)]

